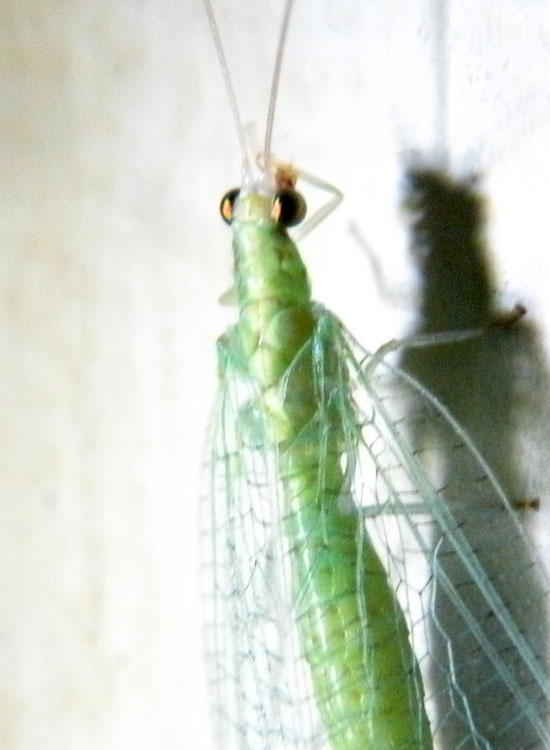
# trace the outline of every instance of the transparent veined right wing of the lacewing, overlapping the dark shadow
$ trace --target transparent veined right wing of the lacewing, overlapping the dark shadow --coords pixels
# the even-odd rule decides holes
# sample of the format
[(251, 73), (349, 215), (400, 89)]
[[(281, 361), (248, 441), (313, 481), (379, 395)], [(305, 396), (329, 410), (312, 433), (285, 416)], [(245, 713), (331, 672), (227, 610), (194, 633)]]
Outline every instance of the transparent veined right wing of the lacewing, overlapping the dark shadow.
[[(360, 347), (342, 337), (357, 362)], [(530, 511), (515, 509), (468, 434), (417, 381), (375, 356), (355, 375), (359, 413), (369, 414), (362, 465), (372, 461), (376, 475), (367, 533), (424, 640), (417, 657), (435, 745), (549, 747), (549, 586), (520, 522)]]

